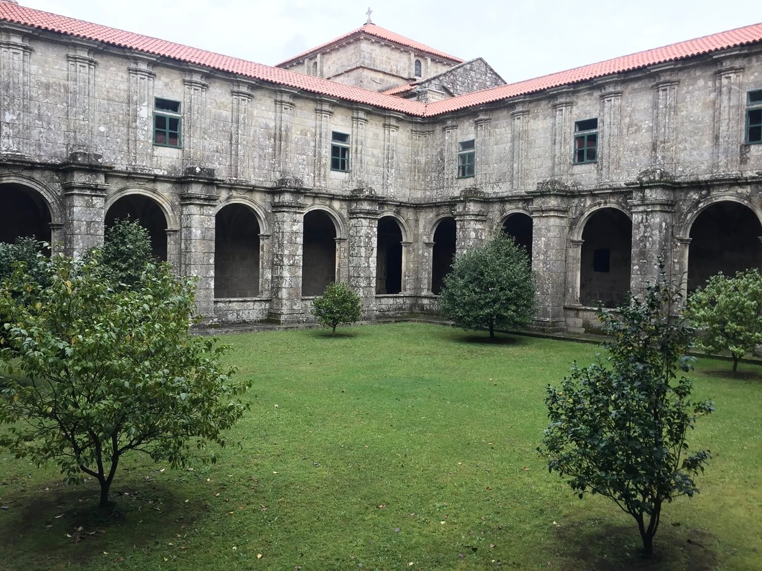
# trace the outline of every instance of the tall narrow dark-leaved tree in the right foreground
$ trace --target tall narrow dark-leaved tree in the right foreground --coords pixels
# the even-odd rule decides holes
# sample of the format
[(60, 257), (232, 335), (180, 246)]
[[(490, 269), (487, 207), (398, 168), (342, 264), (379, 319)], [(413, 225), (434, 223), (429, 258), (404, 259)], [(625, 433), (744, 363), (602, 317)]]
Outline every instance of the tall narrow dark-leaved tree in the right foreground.
[(649, 556), (664, 502), (697, 493), (693, 477), (710, 458), (688, 451), (687, 430), (714, 409), (691, 400), (691, 381), (678, 378), (693, 362), (686, 356), (693, 328), (681, 304), (662, 266), (660, 279), (620, 315), (598, 311), (609, 356), (587, 368), (575, 363), (560, 388), (547, 388), (550, 424), (538, 448), (580, 498), (599, 493), (632, 515)]

